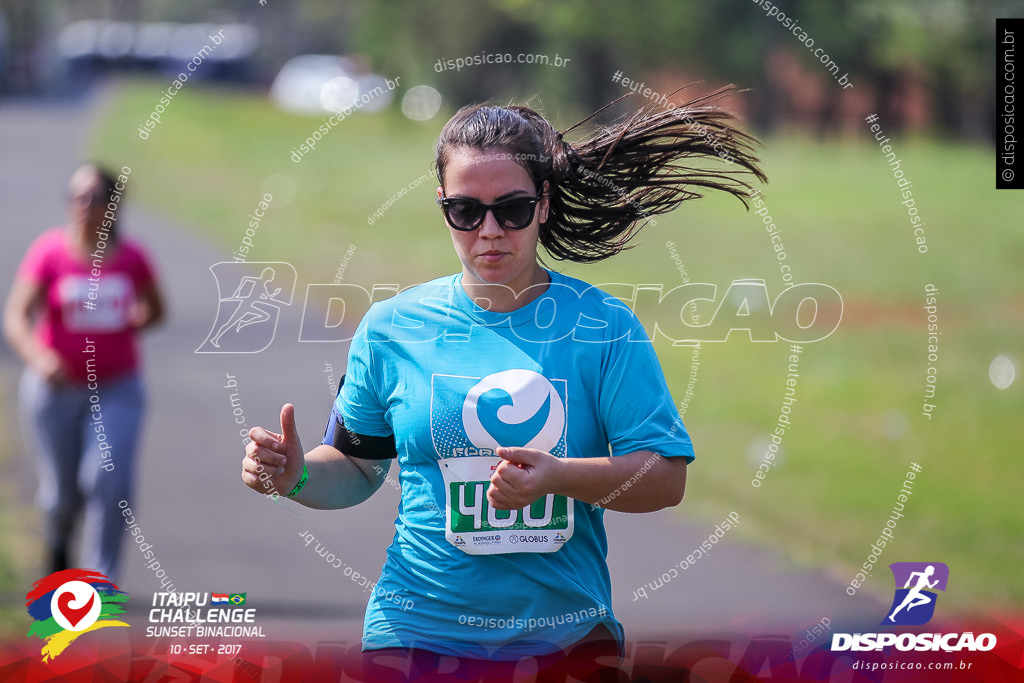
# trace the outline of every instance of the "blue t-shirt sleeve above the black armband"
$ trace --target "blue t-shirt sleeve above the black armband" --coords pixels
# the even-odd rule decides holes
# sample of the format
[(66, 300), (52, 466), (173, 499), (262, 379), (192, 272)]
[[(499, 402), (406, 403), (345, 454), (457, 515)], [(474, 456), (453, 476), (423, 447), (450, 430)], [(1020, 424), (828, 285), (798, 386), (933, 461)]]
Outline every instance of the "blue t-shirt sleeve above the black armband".
[(372, 315), (371, 308), (355, 330), (348, 349), (345, 383), (335, 399), (335, 407), (348, 429), (356, 434), (390, 436), (394, 432), (387, 420), (387, 402), (378, 389), (383, 373), (375, 365), (373, 343), (369, 338)]

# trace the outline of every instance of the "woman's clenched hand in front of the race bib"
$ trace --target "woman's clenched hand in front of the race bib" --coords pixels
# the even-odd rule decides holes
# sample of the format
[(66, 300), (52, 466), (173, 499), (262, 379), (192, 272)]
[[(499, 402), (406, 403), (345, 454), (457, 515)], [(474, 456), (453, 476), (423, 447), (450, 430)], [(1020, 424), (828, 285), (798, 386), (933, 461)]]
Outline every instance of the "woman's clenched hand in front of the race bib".
[(517, 510), (559, 487), (561, 458), (537, 449), (498, 449), (502, 462), (490, 475), (487, 502), (498, 510)]

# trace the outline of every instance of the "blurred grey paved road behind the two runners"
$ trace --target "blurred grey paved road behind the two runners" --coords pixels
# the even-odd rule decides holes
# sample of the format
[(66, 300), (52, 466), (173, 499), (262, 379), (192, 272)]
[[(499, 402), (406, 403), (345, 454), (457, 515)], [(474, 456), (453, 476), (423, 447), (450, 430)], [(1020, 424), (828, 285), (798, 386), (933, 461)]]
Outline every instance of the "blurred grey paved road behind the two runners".
[[(65, 182), (80, 159), (85, 131), (97, 110), (83, 105), (4, 103), (0, 106), (0, 250), (3, 295), (31, 240), (62, 219)], [(131, 160), (126, 160), (131, 164)], [(168, 187), (168, 191), (187, 188)], [(309, 531), (331, 552), (376, 578), (393, 533), (397, 493), (385, 485), (357, 509), (317, 512), (290, 503), (279, 507), (239, 480), (242, 441), (229, 394), (248, 424), (275, 424), (284, 401), (296, 404), (307, 444), (319, 438), (330, 401), (325, 362), (344, 365), (341, 344), (297, 343), (304, 284), (333, 273), (299, 273), (298, 303), (286, 311), (278, 339), (257, 354), (197, 354), (216, 309), (210, 264), (226, 259), (182, 226), (140, 210), (130, 198), (126, 232), (154, 255), (169, 300), (168, 324), (144, 344), (150, 407), (137, 504), (138, 523), (178, 590), (247, 592), (264, 632), (281, 640), (358, 638), (367, 594), (327, 564), (300, 533)], [(240, 217), (240, 239), (243, 220)], [(339, 259), (342, 254), (339, 253)], [(13, 391), (19, 366), (0, 351), (3, 389)], [(225, 389), (225, 378), (238, 387)], [(395, 468), (396, 469), (396, 468)], [(392, 473), (396, 475), (395, 472)], [(31, 507), (31, 462), (16, 463), (15, 481)], [(685, 503), (684, 503), (685, 508)], [(885, 605), (848, 597), (820, 572), (797, 572), (778, 557), (725, 538), (706, 559), (649, 599), (633, 591), (679, 562), (706, 540), (710, 524), (683, 523), (678, 513), (609, 513), (613, 609), (631, 639), (691, 639), (717, 634), (802, 632), (823, 616), (837, 624), (878, 623)], [(160, 590), (138, 551), (126, 544), (121, 586), (145, 600)], [(26, 587), (28, 588), (28, 587)], [(131, 620), (144, 624), (144, 600), (133, 600)]]

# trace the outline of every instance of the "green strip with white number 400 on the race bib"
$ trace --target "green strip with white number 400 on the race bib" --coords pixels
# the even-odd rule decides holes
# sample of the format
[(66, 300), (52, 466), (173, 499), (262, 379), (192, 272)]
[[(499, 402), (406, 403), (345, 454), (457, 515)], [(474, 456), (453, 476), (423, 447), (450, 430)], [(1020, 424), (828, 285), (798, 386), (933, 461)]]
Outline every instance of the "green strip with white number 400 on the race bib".
[(518, 510), (497, 510), (487, 504), (488, 481), (451, 483), (452, 531), (468, 533), (501, 529), (566, 529), (568, 500), (548, 494)]

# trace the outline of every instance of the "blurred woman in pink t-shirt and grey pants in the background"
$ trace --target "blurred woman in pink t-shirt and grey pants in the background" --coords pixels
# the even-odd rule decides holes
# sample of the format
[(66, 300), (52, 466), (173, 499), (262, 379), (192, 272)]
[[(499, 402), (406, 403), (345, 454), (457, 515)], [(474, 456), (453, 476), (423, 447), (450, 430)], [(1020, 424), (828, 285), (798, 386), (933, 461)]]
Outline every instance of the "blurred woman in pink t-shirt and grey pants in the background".
[[(118, 225), (124, 168), (80, 167), (69, 183), (68, 223), (29, 248), (7, 298), (4, 333), (25, 360), (19, 408), (39, 473), (49, 571), (118, 571), (132, 504), (144, 396), (136, 332), (163, 316), (144, 252)], [(69, 557), (85, 508), (82, 561)]]

